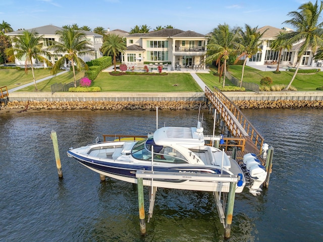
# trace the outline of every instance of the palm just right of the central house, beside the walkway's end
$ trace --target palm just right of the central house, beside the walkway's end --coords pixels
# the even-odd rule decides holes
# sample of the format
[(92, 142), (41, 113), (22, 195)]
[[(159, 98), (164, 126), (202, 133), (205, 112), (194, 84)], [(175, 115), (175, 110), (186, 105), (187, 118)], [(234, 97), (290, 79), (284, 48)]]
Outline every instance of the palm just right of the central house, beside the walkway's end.
[(214, 60), (219, 61), (223, 59), (223, 70), (224, 70), (224, 80), (223, 87), (226, 81), (226, 71), (227, 71), (227, 60), (231, 54), (237, 52), (236, 45), (238, 40), (239, 28), (230, 30), (228, 24), (219, 24), (216, 29), (214, 29), (209, 44), (207, 44), (207, 49), (213, 51), (211, 55), (206, 57), (206, 62), (212, 62)]

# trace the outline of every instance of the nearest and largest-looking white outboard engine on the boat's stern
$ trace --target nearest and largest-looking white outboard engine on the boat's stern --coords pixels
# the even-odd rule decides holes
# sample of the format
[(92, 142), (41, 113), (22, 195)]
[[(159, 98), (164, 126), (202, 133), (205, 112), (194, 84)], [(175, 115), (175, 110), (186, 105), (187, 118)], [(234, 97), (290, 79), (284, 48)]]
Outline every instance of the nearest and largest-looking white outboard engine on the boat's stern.
[(267, 172), (264, 166), (253, 163), (253, 165), (249, 169), (249, 173), (251, 180), (250, 185), (248, 186), (249, 192), (256, 196), (262, 191), (260, 189), (260, 186), (265, 181)]

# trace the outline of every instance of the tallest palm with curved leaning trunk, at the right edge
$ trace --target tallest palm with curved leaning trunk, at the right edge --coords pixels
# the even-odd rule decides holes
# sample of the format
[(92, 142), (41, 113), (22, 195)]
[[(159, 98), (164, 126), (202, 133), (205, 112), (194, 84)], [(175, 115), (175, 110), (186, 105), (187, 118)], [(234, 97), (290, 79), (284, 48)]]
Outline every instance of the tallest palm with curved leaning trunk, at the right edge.
[(296, 30), (295, 32), (287, 33), (285, 37), (287, 39), (290, 39), (290, 42), (292, 44), (298, 43), (299, 41), (303, 42), (301, 42), (297, 55), (297, 68), (292, 77), (292, 80), (284, 90), (288, 90), (292, 85), (301, 63), (300, 57), (304, 54), (304, 52), (308, 49), (311, 49), (313, 53), (315, 53), (318, 47), (323, 46), (323, 22), (318, 22), (322, 10), (323, 2), (320, 2), (320, 5), (318, 5), (316, 0), (315, 4), (313, 4), (312, 2), (302, 4), (298, 8), (298, 12), (292, 11), (288, 13), (288, 15), (292, 17), (292, 19), (286, 20), (284, 23), (295, 27)]

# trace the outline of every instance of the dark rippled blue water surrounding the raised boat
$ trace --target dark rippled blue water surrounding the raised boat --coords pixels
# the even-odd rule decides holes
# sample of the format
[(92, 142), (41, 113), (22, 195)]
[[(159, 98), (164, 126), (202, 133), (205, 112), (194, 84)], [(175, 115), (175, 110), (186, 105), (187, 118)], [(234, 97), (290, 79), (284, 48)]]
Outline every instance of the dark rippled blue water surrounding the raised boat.
[[(270, 187), (238, 194), (229, 241), (323, 240), (323, 111), (243, 110), (273, 145)], [(194, 126), (197, 111), (159, 111), (159, 126)], [(204, 112), (205, 134), (212, 120)], [(154, 131), (150, 111), (0, 114), (0, 241), (223, 241), (210, 193), (159, 189), (140, 236), (136, 185), (107, 179), (74, 159), (69, 147), (101, 134)], [(51, 130), (58, 135), (58, 178)], [(145, 189), (145, 210), (148, 210)]]

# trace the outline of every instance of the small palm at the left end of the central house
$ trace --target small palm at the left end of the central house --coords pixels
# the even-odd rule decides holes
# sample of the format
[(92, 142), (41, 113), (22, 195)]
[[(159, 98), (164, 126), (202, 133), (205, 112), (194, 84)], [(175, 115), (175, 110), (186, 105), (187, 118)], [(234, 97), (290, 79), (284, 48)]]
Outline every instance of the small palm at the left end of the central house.
[(104, 43), (102, 44), (101, 51), (103, 55), (113, 54), (115, 72), (117, 71), (116, 56), (120, 52), (124, 52), (126, 48), (126, 42), (124, 41), (124, 38), (120, 35), (112, 33), (106, 35), (106, 37), (104, 38)]

